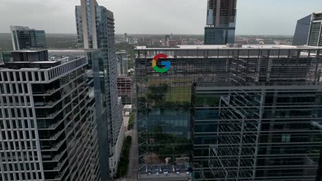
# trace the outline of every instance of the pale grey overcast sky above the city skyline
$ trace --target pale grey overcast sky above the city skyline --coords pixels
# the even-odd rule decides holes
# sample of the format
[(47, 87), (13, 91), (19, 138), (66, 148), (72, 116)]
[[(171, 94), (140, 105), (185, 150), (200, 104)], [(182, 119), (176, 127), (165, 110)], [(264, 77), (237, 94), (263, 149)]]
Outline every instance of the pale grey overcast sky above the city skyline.
[[(114, 12), (116, 33), (204, 34), (206, 0), (97, 0)], [(80, 0), (0, 0), (0, 33), (10, 25), (76, 34)], [(298, 19), (321, 12), (321, 0), (239, 0), (237, 34), (292, 35)]]

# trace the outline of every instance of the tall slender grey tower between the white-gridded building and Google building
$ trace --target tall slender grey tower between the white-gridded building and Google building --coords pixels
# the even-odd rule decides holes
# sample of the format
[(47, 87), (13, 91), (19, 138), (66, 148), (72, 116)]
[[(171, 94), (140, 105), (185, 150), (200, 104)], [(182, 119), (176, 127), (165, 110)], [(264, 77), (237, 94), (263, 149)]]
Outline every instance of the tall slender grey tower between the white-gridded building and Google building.
[(122, 145), (122, 105), (118, 101), (114, 15), (95, 0), (81, 0), (76, 6), (78, 47), (100, 49), (99, 72), (103, 112), (98, 126), (102, 180), (117, 171), (118, 147)]

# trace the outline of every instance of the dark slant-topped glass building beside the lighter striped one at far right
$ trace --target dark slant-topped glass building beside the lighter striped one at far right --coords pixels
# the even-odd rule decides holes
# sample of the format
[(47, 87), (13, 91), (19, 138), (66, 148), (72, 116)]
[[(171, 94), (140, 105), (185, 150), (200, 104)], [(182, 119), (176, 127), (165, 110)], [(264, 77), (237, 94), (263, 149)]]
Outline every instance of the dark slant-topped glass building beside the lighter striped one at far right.
[(297, 21), (292, 45), (307, 45), (312, 14)]

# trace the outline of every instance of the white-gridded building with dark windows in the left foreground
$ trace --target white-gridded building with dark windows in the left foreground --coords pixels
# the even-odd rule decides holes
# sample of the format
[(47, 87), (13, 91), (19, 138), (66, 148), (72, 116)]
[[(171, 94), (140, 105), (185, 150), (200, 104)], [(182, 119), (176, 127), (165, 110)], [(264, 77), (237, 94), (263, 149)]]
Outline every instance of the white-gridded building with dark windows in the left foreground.
[(12, 58), (0, 69), (1, 180), (100, 180), (87, 58)]

